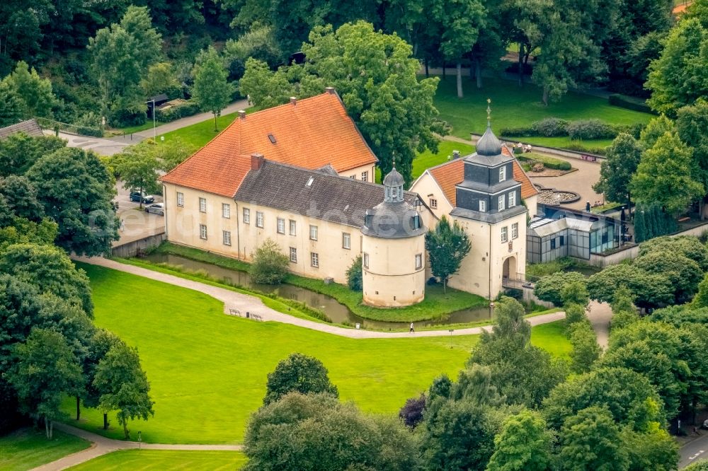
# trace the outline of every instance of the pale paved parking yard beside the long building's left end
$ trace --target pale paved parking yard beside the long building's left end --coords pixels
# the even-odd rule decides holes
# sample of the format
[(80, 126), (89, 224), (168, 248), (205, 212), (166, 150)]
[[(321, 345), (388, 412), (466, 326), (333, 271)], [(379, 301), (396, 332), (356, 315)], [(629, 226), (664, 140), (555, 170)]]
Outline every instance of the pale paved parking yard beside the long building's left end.
[[(122, 221), (122, 228), (118, 231), (120, 240), (116, 240), (113, 243), (113, 247), (165, 231), (164, 216), (147, 213), (145, 204), (140, 209), (139, 203), (130, 201), (130, 188), (123, 187), (122, 182), (117, 182), (116, 188), (118, 196), (115, 197), (114, 201), (118, 202), (117, 213)], [(163, 202), (162, 197), (155, 195), (155, 202)]]

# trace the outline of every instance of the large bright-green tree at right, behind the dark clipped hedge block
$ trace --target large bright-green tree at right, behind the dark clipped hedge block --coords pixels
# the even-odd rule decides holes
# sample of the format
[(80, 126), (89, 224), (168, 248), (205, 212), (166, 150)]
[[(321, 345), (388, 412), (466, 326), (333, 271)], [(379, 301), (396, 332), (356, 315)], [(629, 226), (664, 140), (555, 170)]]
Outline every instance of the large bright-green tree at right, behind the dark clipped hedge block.
[(629, 184), (638, 203), (660, 204), (669, 214), (678, 214), (705, 189), (692, 178), (692, 149), (676, 134), (665, 133), (644, 152)]

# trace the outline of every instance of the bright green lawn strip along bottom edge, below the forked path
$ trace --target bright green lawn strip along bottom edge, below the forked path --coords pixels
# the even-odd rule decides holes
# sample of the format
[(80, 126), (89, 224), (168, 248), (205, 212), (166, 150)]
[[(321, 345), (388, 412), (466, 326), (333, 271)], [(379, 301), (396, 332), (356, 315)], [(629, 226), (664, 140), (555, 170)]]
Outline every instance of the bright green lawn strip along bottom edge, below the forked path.
[(239, 451), (119, 450), (70, 467), (69, 470), (210, 471), (239, 470), (244, 464), (246, 457)]

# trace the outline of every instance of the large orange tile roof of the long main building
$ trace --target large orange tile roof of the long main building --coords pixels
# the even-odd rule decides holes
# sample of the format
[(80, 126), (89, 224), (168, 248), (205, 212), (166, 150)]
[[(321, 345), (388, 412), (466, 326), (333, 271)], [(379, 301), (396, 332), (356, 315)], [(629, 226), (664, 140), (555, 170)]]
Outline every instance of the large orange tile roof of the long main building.
[(377, 158), (336, 93), (322, 93), (244, 118), (164, 175), (163, 182), (233, 197), (251, 168), (251, 153), (298, 167), (343, 172)]

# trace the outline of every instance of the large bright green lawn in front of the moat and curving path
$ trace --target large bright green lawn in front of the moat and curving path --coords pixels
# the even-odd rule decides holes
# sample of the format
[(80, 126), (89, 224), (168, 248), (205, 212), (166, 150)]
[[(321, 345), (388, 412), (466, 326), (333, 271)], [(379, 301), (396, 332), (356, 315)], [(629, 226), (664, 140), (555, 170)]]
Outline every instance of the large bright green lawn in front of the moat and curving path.
[[(249, 414), (261, 405), (267, 373), (295, 351), (324, 362), (343, 400), (365, 411), (394, 413), (435, 376), (456, 376), (477, 341), (476, 336), (348, 339), (253, 322), (224, 315), (222, 303), (197, 291), (102, 267), (85, 269), (96, 324), (137, 347), (147, 371), (155, 416), (129, 425), (147, 442), (240, 443)], [(561, 354), (559, 345), (568, 344), (553, 331), (535, 337), (535, 344)], [(64, 404), (69, 414), (72, 404), (68, 399)], [(85, 410), (81, 417), (79, 426), (104, 433), (99, 412)], [(105, 434), (122, 438), (114, 414), (110, 421)]]

